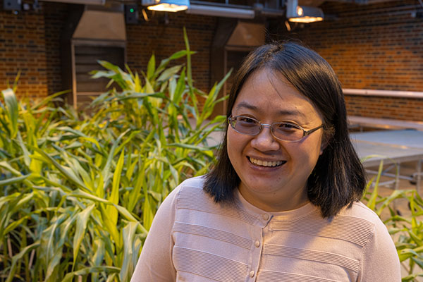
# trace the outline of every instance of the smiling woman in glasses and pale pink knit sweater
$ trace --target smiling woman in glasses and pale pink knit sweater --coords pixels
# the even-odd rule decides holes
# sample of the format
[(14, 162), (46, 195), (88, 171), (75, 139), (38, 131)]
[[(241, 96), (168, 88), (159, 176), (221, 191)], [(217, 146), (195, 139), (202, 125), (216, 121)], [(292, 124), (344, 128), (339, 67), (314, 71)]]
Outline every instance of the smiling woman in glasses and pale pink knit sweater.
[(132, 281), (400, 281), (335, 73), (298, 44), (250, 54), (219, 161), (161, 204)]

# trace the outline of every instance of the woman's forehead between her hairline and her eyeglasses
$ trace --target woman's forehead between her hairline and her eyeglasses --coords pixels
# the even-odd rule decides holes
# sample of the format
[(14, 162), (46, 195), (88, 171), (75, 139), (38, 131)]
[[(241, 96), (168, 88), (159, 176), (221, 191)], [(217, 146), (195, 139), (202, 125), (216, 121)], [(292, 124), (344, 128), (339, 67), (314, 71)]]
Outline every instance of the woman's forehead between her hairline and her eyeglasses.
[(295, 116), (304, 119), (320, 118), (319, 111), (305, 95), (286, 78), (267, 68), (262, 68), (245, 81), (233, 105), (232, 114), (264, 116)]

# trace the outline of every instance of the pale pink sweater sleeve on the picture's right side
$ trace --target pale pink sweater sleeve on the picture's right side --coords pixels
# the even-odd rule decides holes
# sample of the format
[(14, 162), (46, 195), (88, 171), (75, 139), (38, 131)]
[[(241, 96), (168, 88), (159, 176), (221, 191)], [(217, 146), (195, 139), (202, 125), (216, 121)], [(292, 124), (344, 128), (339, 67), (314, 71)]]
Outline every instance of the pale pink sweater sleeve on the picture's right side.
[(364, 246), (358, 282), (400, 282), (398, 252), (384, 223), (376, 221), (374, 233)]

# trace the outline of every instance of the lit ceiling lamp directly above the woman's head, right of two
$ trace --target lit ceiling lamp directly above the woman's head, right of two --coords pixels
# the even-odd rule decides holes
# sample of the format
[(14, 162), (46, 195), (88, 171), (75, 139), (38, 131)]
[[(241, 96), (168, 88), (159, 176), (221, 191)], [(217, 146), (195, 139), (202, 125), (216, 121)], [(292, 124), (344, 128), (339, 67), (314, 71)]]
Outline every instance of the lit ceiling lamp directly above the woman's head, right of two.
[(324, 19), (321, 8), (312, 6), (298, 6), (298, 0), (288, 0), (286, 3), (286, 18), (290, 22), (313, 23)]

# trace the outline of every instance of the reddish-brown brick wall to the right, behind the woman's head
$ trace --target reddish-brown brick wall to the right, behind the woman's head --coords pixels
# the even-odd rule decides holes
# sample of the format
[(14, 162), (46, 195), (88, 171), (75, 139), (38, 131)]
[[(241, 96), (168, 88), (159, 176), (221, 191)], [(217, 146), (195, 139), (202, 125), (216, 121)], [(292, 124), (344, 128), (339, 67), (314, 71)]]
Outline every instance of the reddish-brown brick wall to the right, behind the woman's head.
[[(325, 15), (336, 20), (279, 25), (279, 38), (299, 38), (331, 63), (343, 87), (423, 91), (423, 18), (415, 0), (357, 5), (326, 2)], [(423, 99), (346, 97), (348, 113), (378, 118), (423, 121)]]

